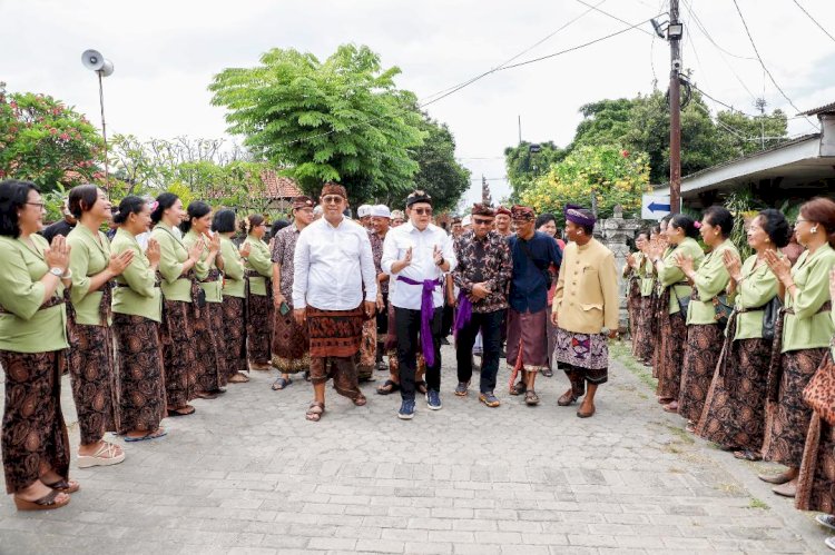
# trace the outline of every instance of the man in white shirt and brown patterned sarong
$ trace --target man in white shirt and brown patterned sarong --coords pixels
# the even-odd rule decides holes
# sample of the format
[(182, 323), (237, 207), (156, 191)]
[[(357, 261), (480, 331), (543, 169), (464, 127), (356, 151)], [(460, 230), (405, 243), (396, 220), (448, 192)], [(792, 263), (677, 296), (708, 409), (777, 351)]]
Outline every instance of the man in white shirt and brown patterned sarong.
[(336, 393), (356, 406), (365, 405), (354, 355), (377, 296), (369, 234), (343, 215), (347, 191), (341, 185), (325, 184), (320, 204), (324, 215), (298, 235), (293, 257), (293, 316), (299, 325), (307, 323), (311, 340), (314, 400), (305, 416), (312, 422), (325, 412), (330, 376)]

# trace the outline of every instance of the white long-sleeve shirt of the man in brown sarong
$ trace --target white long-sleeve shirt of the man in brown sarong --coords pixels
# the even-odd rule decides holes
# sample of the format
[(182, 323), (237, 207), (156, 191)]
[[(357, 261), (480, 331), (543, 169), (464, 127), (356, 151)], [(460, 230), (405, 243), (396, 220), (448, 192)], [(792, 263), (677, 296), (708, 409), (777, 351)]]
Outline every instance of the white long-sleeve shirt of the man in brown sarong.
[(353, 310), (377, 296), (369, 232), (343, 218), (334, 227), (321, 218), (298, 235), (293, 256), (293, 307)]

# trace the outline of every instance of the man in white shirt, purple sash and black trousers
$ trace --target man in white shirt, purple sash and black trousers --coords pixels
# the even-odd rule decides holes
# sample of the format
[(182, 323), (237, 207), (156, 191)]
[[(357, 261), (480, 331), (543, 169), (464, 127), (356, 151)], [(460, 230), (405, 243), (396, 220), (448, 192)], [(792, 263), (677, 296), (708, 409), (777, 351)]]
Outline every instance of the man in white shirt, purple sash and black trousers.
[(383, 271), (396, 287), (394, 306), (402, 405), (397, 417), (414, 416), (414, 374), (418, 336), (426, 360), (426, 406), (441, 408), (441, 325), (443, 275), (455, 268), (452, 239), (432, 219), (432, 198), (414, 191), (406, 198), (409, 221), (389, 231), (383, 244)]

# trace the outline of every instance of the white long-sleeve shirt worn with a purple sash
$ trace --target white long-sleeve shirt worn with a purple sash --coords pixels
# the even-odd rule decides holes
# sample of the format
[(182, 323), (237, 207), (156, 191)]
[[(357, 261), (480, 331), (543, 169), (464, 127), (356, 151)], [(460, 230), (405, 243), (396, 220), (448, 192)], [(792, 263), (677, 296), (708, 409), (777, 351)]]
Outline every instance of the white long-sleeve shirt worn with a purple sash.
[[(412, 262), (399, 274), (392, 274), (392, 264), (405, 258), (406, 250), (410, 247), (412, 248)], [(399, 276), (407, 277), (421, 284), (428, 279), (440, 279), (441, 285), (432, 291), (432, 301), (434, 307), (438, 308), (443, 306), (444, 272), (435, 265), (435, 247), (441, 250), (444, 260), (450, 262), (449, 271), (455, 269), (455, 252), (452, 249), (452, 239), (446, 235), (446, 231), (432, 224), (420, 231), (411, 221), (407, 221), (402, 226), (390, 229), (386, 234), (385, 241), (383, 241), (381, 266), (384, 272), (392, 276), (392, 286)], [(396, 283), (397, 286), (394, 289), (389, 289), (389, 301), (395, 307), (420, 310), (423, 287), (404, 281)]]

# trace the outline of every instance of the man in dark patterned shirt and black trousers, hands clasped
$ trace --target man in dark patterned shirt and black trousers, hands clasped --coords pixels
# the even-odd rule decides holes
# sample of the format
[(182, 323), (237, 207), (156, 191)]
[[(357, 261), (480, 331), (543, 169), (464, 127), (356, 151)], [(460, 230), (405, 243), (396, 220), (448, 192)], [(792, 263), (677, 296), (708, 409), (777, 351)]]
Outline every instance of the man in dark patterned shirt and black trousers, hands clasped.
[(458, 387), (455, 395), (464, 397), (472, 379), (472, 348), (481, 331), (483, 354), (479, 400), (498, 407), (495, 375), (501, 353), (501, 326), (508, 308), (505, 291), (513, 262), (508, 242), (493, 229), (495, 211), (490, 206), (473, 205), (472, 230), (455, 240), (458, 266), (452, 279), (459, 287), (455, 317)]

